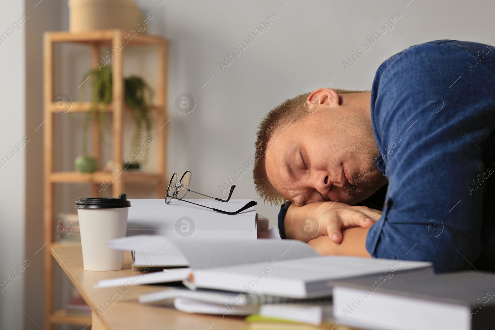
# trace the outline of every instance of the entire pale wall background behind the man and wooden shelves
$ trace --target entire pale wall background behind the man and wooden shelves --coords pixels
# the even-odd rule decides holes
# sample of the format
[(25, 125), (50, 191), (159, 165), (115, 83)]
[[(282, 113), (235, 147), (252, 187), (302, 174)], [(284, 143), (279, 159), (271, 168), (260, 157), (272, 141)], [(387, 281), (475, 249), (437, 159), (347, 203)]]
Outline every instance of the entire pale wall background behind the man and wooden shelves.
[[(44, 244), (44, 211), (38, 204), (43, 204), (43, 126), (34, 131), (44, 119), (43, 86), (38, 81), (43, 81), (41, 35), (45, 30), (67, 29), (68, 10), (65, 0), (38, 2), (2, 1), (0, 11), (0, 32), (22, 12), (30, 13), (28, 24), (0, 45), (0, 157), (22, 137), (30, 137), (27, 147), (0, 169), (0, 280), (23, 260), (30, 261), (25, 276), (0, 293), (0, 329), (21, 329), (23, 322), (29, 329), (42, 326), (42, 252), (34, 254)], [(256, 197), (252, 168), (244, 162), (254, 153), (257, 124), (272, 107), (319, 87), (369, 89), (380, 63), (411, 45), (436, 39), (495, 43), (491, 40), (495, 40), (495, 4), (488, 0), (138, 0), (138, 4), (143, 12), (153, 14), (148, 31), (166, 37), (170, 45), (169, 174), (189, 169), (193, 189), (220, 195), (218, 186), (243, 167), (247, 173), (236, 182), (234, 197), (255, 198), (258, 212), (268, 216), (271, 225), (278, 207), (264, 205)], [(277, 18), (268, 30), (247, 45), (243, 38), (272, 12)], [(366, 38), (396, 12), (400, 18), (392, 30), (371, 45)], [(246, 49), (222, 70), (219, 61), (240, 43)], [(346, 70), (343, 61), (364, 43), (370, 48)], [(77, 86), (90, 66), (89, 52), (68, 47), (61, 53), (56, 88), (78, 99)], [(130, 49), (127, 54), (131, 55)], [(148, 81), (155, 79), (147, 67), (142, 69)], [(181, 93), (196, 98), (193, 112), (175, 108), (175, 98)], [(58, 169), (72, 170), (74, 157), (80, 154), (78, 123), (66, 116), (57, 124)], [(56, 189), (62, 201), (57, 207), (62, 211), (72, 210), (73, 200), (89, 192), (63, 185)], [(152, 198), (143, 187), (129, 186), (129, 190)]]

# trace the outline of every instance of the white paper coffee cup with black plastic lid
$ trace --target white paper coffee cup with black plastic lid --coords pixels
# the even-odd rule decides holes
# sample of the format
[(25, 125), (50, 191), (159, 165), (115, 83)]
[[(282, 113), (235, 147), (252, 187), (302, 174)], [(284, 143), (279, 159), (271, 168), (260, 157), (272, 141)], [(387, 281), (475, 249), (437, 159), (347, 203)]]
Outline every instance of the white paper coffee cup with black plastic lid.
[(117, 198), (81, 198), (76, 202), (85, 271), (122, 269), (124, 251), (108, 248), (110, 239), (125, 237), (131, 202)]

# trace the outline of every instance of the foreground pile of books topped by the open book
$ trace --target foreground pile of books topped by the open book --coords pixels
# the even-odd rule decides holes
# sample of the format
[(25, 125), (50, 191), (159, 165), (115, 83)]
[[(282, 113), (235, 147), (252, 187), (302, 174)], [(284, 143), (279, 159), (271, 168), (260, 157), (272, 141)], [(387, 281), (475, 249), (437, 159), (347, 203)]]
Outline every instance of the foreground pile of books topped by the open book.
[(187, 313), (250, 316), (251, 329), (268, 324), (269, 329), (279, 329), (285, 323), (288, 329), (325, 329), (321, 327), (332, 319), (330, 281), (378, 279), (390, 272), (433, 274), (428, 262), (322, 257), (309, 245), (288, 239), (131, 236), (114, 239), (110, 246), (147, 255), (149, 264), (156, 256), (161, 262), (168, 256), (175, 265), (173, 257), (180, 253), (188, 267), (103, 280), (97, 287), (179, 282), (182, 287), (143, 294), (139, 301), (165, 306), (173, 301), (176, 309)]

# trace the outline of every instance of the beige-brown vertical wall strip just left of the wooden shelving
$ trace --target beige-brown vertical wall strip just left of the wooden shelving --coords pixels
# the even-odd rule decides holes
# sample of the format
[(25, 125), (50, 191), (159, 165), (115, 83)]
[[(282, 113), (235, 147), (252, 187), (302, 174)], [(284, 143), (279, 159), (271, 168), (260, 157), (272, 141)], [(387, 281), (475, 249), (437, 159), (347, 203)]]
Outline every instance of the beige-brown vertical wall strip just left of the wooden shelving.
[[(26, 228), (24, 329), (43, 328), (44, 274), (43, 259), (46, 245), (43, 237), (43, 33), (63, 29), (61, 3), (66, 1), (26, 0), (26, 134), (30, 141), (26, 148)], [(41, 80), (41, 81), (40, 81)], [(40, 126), (41, 125), (41, 126)], [(41, 205), (40, 205), (41, 204)], [(42, 248), (43, 246), (43, 248)], [(59, 267), (56, 266), (56, 269)], [(19, 328), (20, 329), (20, 328)]]

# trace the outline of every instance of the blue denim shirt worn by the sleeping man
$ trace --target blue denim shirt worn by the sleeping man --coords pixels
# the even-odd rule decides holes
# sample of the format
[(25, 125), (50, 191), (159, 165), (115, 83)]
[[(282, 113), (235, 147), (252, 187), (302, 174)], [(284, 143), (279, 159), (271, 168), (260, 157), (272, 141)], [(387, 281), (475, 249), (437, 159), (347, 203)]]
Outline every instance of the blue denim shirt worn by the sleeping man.
[(371, 119), (389, 185), (367, 251), (431, 261), (437, 272), (494, 271), (495, 199), (486, 194), (495, 195), (495, 48), (437, 40), (388, 58)]

